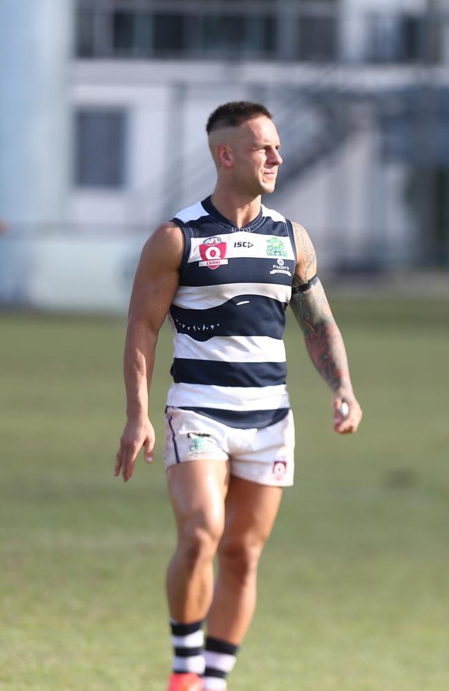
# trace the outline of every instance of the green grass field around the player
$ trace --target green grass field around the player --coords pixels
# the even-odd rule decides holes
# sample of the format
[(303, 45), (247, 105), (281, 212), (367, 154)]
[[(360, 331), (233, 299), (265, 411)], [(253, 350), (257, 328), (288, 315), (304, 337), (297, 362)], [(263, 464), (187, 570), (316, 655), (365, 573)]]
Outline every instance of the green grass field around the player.
[[(449, 688), (449, 303), (334, 301), (365, 419), (329, 394), (290, 319), (296, 486), (260, 566), (230, 691)], [(0, 316), (0, 688), (160, 691), (174, 531), (157, 460), (113, 477), (124, 321)]]

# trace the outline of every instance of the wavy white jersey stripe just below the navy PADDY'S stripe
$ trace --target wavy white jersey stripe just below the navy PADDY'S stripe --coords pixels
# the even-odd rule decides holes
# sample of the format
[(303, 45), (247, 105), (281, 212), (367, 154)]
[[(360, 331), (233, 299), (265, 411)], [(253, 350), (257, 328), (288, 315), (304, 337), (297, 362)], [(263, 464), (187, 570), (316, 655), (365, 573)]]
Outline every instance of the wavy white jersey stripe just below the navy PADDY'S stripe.
[(267, 298), (288, 303), (292, 288), (280, 283), (223, 283), (198, 288), (196, 285), (180, 285), (173, 298), (173, 305), (184, 310), (198, 310), (198, 292), (201, 294), (201, 310), (218, 307), (239, 295), (262, 295)]

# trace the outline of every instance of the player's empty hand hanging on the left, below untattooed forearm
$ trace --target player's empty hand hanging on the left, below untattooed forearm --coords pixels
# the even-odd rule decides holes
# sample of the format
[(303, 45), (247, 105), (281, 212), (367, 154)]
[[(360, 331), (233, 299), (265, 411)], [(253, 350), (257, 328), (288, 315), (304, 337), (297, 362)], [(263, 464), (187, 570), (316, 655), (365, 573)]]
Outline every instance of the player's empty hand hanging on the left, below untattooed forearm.
[(144, 446), (145, 460), (153, 461), (155, 434), (153, 425), (148, 417), (144, 419), (129, 419), (120, 438), (120, 448), (117, 452), (114, 475), (120, 475), (127, 482), (133, 475), (134, 465), (140, 449)]

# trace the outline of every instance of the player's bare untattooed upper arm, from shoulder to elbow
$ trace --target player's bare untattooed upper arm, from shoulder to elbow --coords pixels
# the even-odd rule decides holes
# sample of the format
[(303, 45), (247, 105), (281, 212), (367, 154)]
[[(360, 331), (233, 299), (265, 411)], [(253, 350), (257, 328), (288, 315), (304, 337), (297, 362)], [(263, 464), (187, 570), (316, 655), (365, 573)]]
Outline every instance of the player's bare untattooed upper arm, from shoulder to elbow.
[(178, 289), (184, 238), (178, 226), (165, 223), (147, 240), (137, 265), (128, 319), (160, 330)]

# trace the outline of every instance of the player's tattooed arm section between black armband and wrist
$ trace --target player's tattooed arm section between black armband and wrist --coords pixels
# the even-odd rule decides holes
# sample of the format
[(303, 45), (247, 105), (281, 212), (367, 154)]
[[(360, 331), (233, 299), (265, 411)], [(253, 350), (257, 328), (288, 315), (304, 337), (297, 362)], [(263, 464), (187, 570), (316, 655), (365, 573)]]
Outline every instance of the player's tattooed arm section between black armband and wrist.
[(351, 392), (345, 345), (320, 281), (305, 292), (294, 293), (290, 305), (318, 372), (332, 391)]

